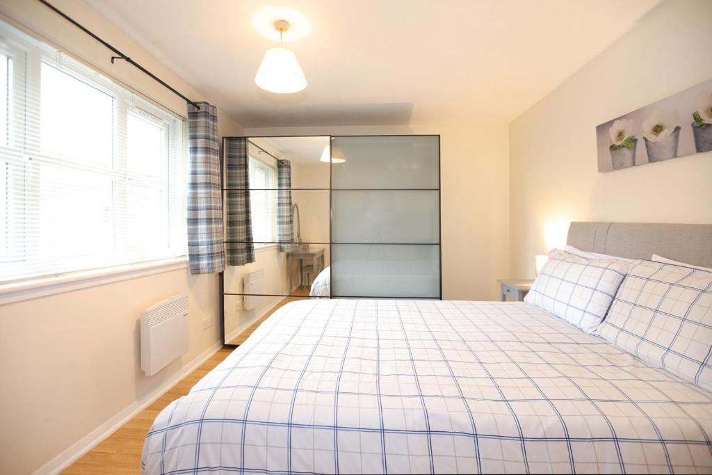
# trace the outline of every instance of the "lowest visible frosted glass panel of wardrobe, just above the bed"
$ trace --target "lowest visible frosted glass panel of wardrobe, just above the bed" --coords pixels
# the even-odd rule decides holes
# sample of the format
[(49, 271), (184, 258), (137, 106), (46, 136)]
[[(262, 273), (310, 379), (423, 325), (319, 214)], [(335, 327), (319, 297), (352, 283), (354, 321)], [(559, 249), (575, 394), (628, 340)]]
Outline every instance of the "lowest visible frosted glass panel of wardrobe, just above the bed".
[(333, 244), (333, 297), (440, 298), (438, 245)]

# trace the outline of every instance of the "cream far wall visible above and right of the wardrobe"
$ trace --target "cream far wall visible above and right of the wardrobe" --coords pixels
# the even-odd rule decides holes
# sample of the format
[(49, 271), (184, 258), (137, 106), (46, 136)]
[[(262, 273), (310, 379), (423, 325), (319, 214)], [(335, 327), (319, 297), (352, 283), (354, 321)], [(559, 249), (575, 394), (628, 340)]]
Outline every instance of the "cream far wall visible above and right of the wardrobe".
[(441, 122), (409, 126), (248, 128), (246, 135), (441, 135), (443, 297), (498, 298), (509, 273), (507, 127)]

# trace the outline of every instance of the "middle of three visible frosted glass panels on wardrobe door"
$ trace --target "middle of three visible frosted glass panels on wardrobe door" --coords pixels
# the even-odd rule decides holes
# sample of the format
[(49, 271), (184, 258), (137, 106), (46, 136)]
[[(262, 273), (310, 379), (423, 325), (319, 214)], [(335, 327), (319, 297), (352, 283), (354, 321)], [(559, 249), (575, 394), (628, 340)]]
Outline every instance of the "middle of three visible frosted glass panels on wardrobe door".
[(335, 243), (438, 244), (437, 191), (367, 190), (331, 194)]

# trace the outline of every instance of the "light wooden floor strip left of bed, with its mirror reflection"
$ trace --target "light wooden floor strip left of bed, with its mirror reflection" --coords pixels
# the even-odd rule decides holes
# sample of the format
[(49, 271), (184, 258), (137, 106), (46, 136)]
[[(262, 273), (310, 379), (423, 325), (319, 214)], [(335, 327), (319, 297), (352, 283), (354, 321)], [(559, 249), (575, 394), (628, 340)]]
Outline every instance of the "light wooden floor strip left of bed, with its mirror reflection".
[[(278, 308), (287, 303), (302, 300), (309, 296), (308, 287), (297, 288), (291, 296), (284, 298), (266, 315), (257, 320), (250, 328), (229, 342), (231, 345), (240, 345), (248, 336)], [(64, 474), (140, 474), (141, 451), (143, 441), (150, 429), (153, 420), (173, 400), (187, 395), (201, 377), (232, 353), (234, 348), (223, 348), (204, 362), (197, 370), (185, 377), (184, 380), (172, 387), (166, 394), (137, 414), (136, 417), (124, 424), (120, 429), (111, 434), (108, 439), (88, 451), (81, 459), (68, 467)]]

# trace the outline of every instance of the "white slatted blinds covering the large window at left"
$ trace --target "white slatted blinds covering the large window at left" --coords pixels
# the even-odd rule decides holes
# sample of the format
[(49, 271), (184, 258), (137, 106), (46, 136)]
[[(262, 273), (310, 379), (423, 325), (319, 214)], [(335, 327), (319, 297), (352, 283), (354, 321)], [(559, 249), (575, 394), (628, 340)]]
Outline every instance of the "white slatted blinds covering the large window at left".
[(186, 132), (0, 21), (0, 282), (184, 256)]

